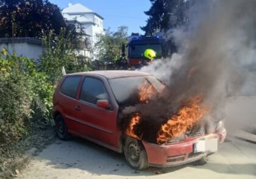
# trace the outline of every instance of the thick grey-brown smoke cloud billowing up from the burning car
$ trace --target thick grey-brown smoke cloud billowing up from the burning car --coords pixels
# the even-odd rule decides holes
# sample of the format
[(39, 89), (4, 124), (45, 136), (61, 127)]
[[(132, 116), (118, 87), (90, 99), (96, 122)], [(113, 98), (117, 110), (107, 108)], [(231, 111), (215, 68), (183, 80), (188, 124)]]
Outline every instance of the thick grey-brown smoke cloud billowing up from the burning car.
[(168, 83), (177, 102), (203, 93), (213, 116), (224, 118), (227, 96), (256, 92), (255, 9), (254, 0), (191, 1), (188, 27), (166, 35), (177, 54), (141, 71)]

